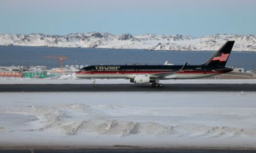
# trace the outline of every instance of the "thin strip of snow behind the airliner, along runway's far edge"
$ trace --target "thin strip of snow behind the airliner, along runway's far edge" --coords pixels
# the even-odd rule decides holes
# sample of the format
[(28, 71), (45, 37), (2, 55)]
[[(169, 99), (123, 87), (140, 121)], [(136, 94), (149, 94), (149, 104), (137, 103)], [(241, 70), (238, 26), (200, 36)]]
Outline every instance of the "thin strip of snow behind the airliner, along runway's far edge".
[[(256, 79), (169, 79), (161, 80), (163, 84), (255, 84)], [(14, 78), (0, 77), (1, 84), (93, 84), (93, 79), (80, 79), (74, 74), (62, 75), (55, 78)], [(97, 84), (123, 84), (130, 83), (130, 79), (96, 79)]]

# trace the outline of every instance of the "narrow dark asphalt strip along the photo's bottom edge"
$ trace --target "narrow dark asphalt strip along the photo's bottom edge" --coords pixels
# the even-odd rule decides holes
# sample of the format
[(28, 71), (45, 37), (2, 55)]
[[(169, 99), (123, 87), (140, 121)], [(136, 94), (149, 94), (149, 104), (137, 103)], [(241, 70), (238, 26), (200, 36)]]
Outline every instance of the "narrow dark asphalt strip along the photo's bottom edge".
[(56, 152), (56, 153), (82, 153), (82, 152), (88, 152), (88, 153), (101, 153), (101, 152), (107, 152), (107, 153), (253, 153), (256, 152), (255, 150), (169, 150), (169, 149), (79, 149), (79, 150), (0, 150), (0, 153), (6, 152), (6, 153), (49, 153), (49, 152)]

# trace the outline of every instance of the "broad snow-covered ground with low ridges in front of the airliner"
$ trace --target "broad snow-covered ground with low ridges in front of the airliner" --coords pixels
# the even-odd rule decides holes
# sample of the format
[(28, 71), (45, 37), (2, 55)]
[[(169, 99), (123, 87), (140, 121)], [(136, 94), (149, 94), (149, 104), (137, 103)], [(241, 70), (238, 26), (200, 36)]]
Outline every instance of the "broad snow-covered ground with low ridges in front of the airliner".
[(256, 148), (256, 92), (0, 97), (0, 147)]

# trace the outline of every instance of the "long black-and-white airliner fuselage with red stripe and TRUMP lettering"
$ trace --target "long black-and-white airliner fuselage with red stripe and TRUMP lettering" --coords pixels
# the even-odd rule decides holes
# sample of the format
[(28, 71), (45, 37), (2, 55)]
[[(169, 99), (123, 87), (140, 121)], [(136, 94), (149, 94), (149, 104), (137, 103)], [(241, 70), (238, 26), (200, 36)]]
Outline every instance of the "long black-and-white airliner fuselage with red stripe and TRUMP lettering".
[(195, 79), (211, 77), (232, 71), (225, 67), (207, 67), (205, 65), (92, 65), (76, 72), (78, 78), (126, 78), (137, 75), (159, 75), (159, 79)]

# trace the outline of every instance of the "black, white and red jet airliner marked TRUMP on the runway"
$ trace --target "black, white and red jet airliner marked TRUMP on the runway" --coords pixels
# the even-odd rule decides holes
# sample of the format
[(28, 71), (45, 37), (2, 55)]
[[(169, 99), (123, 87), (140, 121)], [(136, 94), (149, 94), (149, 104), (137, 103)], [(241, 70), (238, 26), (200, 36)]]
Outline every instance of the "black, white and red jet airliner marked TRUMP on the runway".
[(197, 79), (233, 71), (225, 67), (233, 45), (234, 41), (227, 41), (201, 65), (90, 65), (81, 68), (75, 76), (93, 79), (94, 87), (97, 78), (123, 78), (130, 79), (131, 83), (152, 83), (154, 87), (162, 87), (159, 83), (162, 79)]

